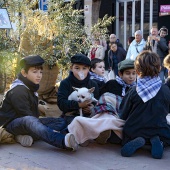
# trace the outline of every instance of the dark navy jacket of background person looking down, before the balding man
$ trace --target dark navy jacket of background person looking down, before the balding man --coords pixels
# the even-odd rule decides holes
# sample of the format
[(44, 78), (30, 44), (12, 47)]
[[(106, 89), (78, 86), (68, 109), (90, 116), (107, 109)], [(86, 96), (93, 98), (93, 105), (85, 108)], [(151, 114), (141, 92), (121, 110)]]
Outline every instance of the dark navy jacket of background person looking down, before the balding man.
[(114, 65), (114, 61), (113, 61), (113, 56), (116, 56), (117, 58), (117, 64), (121, 61), (123, 61), (126, 58), (126, 51), (121, 48), (121, 47), (117, 47), (117, 51), (113, 52), (112, 50), (108, 51), (108, 63), (109, 63), (109, 68), (112, 67), (112, 69), (114, 69), (115, 67), (117, 67), (117, 65)]

